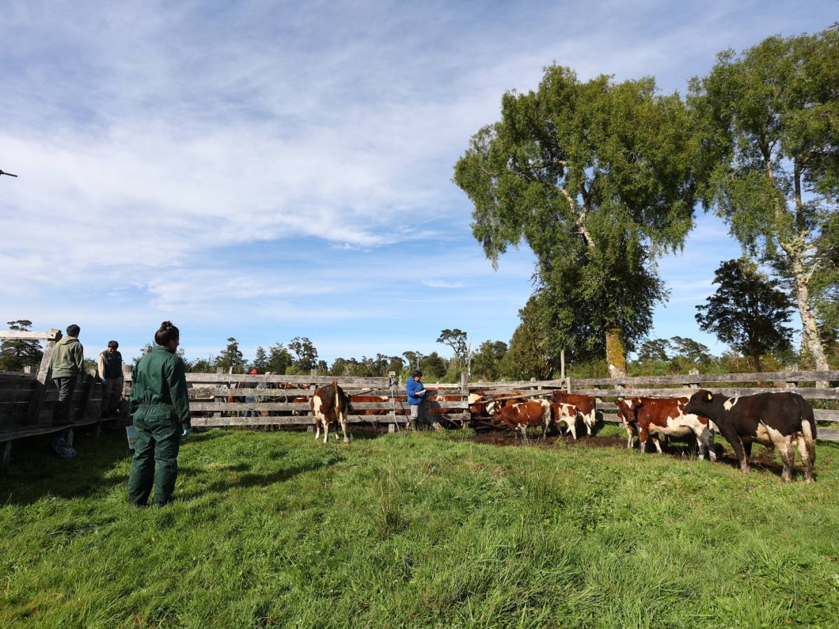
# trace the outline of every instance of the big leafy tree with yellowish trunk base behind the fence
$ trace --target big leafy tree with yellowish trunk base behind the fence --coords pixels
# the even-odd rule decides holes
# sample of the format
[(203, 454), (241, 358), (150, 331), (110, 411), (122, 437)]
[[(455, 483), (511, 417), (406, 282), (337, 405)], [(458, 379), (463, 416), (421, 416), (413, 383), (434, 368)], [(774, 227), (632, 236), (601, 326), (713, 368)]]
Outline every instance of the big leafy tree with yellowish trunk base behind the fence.
[(666, 296), (654, 257), (693, 221), (697, 145), (678, 94), (655, 81), (577, 80), (545, 69), (539, 89), (508, 92), (501, 120), (473, 137), (455, 182), (493, 265), (524, 239), (550, 299), (550, 343), (606, 352), (613, 375)]

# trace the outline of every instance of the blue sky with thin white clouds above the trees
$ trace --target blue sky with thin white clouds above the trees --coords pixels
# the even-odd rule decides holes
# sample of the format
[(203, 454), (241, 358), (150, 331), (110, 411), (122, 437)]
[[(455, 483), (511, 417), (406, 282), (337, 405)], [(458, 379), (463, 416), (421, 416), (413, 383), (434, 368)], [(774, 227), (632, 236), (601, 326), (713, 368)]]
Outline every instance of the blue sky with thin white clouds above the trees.
[[(804, 10), (806, 8), (806, 10)], [(552, 62), (685, 91), (722, 49), (814, 32), (836, 0), (3, 3), (0, 315), (134, 356), (164, 319), (192, 358), (235, 336), (320, 357), (427, 354), (443, 328), (509, 340), (526, 247), (498, 271), (451, 183), (504, 91)], [(698, 216), (659, 260), (654, 337), (739, 249)], [(795, 324), (798, 322), (795, 320)]]

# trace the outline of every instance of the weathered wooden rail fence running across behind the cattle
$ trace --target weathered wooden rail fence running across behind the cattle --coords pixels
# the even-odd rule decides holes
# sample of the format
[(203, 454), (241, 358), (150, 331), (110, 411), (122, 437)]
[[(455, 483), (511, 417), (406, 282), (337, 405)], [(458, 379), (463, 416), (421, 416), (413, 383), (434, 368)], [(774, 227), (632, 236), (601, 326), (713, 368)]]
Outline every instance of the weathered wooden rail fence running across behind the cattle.
[[(130, 378), (130, 376), (127, 376)], [(352, 401), (351, 424), (404, 424), (408, 412), (404, 382), (393, 382), (387, 377), (331, 377), (331, 376), (265, 376), (232, 373), (188, 373), (190, 410), (193, 426), (300, 426), (312, 424), (309, 402), (302, 398), (312, 389), (336, 380), (351, 396), (380, 396), (378, 402)], [(839, 388), (815, 387), (817, 381), (839, 382), (839, 372), (766, 372), (689, 374), (659, 377), (571, 378), (519, 382), (469, 382), (467, 374), (460, 384), (426, 384), (427, 388), (446, 395), (446, 401), (430, 403), (430, 412), (440, 424), (464, 426), (470, 419), (469, 393), (485, 392), (503, 397), (510, 392), (523, 392), (526, 398), (547, 398), (553, 391), (584, 393), (597, 398), (602, 419), (617, 422), (614, 399), (633, 395), (675, 397), (690, 396), (699, 388), (728, 396), (750, 395), (765, 391), (800, 393), (811, 402), (839, 401)], [(771, 386), (766, 386), (771, 384)], [(759, 386), (758, 386), (759, 385)], [(266, 388), (274, 387), (274, 388)], [(232, 401), (228, 398), (255, 398), (253, 402)], [(298, 398), (295, 401), (295, 398)], [(451, 399), (455, 398), (455, 399)], [(352, 399), (352, 398), (351, 398)], [(446, 411), (440, 413), (440, 409)], [(363, 411), (383, 414), (362, 414)], [(839, 422), (839, 410), (816, 408), (820, 422)], [(837, 438), (836, 431), (821, 430), (826, 439)]]

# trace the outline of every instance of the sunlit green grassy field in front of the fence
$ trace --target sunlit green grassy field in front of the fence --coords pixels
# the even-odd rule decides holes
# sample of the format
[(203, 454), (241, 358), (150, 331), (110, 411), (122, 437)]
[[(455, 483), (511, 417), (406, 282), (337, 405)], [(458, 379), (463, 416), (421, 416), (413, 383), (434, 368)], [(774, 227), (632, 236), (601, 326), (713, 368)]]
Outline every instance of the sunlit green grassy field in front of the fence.
[(125, 504), (124, 433), (17, 446), (0, 626), (839, 625), (836, 445), (784, 486), (471, 435), (194, 434), (164, 509)]

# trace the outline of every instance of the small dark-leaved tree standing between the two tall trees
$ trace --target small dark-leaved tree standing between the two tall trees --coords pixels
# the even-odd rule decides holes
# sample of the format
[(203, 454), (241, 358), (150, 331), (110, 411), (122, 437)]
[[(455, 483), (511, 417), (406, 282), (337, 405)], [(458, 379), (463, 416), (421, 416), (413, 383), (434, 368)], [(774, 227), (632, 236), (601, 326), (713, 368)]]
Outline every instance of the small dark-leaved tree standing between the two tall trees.
[[(760, 356), (789, 348), (792, 300), (779, 290), (778, 280), (758, 271), (747, 260), (728, 260), (717, 268), (717, 292), (696, 306), (701, 330), (713, 332), (723, 343), (751, 356), (760, 372)], [(707, 349), (707, 348), (706, 348)]]

